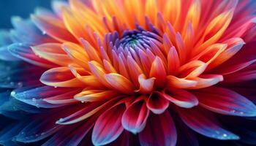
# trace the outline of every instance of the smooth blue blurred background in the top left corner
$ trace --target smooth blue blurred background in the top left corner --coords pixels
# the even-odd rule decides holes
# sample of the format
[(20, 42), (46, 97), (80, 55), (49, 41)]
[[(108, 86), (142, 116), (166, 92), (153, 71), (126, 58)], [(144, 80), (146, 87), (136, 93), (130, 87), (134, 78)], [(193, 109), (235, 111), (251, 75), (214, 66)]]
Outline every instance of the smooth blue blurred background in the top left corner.
[(0, 0), (0, 29), (12, 28), (10, 18), (18, 15), (21, 18), (28, 18), (36, 7), (50, 9), (51, 0)]

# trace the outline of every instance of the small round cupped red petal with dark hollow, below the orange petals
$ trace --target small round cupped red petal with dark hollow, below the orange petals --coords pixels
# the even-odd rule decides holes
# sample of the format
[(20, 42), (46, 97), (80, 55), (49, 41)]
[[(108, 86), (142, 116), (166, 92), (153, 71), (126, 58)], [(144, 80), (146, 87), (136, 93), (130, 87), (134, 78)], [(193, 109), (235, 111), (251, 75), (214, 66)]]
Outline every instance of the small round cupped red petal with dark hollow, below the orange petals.
[(169, 107), (169, 101), (162, 96), (162, 93), (157, 91), (151, 93), (146, 104), (148, 109), (155, 114), (162, 114)]

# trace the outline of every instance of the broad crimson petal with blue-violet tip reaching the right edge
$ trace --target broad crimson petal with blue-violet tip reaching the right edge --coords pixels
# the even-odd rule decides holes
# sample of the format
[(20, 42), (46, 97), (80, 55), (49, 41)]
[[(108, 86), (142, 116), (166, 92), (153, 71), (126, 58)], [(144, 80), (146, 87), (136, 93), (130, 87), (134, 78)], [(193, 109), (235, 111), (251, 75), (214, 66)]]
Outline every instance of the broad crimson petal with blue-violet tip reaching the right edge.
[(256, 106), (252, 101), (226, 88), (209, 87), (194, 94), (202, 107), (213, 112), (246, 117), (256, 115)]

